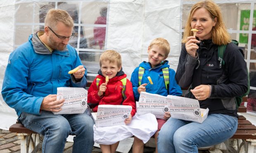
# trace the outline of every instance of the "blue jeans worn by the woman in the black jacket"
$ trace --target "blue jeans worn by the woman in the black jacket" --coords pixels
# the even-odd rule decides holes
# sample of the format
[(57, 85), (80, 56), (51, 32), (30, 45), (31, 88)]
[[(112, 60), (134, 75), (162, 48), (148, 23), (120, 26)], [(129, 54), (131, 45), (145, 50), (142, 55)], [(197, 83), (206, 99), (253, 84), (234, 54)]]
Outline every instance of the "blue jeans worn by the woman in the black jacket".
[(209, 114), (203, 123), (169, 118), (158, 136), (158, 153), (198, 153), (198, 147), (212, 146), (232, 137), (237, 118)]

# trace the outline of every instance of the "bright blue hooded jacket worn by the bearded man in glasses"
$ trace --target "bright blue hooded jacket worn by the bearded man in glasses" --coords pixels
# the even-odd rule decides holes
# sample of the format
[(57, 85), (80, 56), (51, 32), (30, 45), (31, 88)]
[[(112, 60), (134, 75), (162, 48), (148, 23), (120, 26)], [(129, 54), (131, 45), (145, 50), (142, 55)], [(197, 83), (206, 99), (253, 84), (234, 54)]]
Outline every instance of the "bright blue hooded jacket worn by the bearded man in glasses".
[(57, 87), (86, 86), (86, 75), (80, 82), (69, 70), (83, 65), (76, 50), (67, 45), (63, 51), (52, 53), (43, 45), (37, 34), (15, 49), (9, 56), (2, 85), (2, 97), (17, 112), (40, 114), (43, 98), (57, 94)]

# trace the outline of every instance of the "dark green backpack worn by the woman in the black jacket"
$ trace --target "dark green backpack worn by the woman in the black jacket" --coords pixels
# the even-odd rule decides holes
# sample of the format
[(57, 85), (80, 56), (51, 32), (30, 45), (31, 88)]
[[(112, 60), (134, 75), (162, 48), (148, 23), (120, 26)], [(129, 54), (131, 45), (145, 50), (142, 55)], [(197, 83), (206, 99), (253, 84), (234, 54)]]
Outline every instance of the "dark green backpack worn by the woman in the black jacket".
[[(237, 42), (236, 40), (232, 40), (232, 43), (236, 44), (238, 46), (239, 42)], [(223, 60), (223, 55), (224, 55), (224, 52), (225, 52), (225, 49), (226, 49), (226, 46), (227, 45), (221, 45), (221, 46), (218, 46), (218, 60), (220, 61), (220, 68), (225, 65), (225, 61)], [(244, 56), (244, 53), (242, 51), (240, 51), (242, 53), (242, 55)], [(247, 74), (248, 74), (248, 89), (247, 89), (247, 92), (244, 93), (244, 95), (242, 96), (238, 96), (238, 97), (235, 97), (236, 99), (236, 105), (237, 105), (237, 108), (240, 106), (240, 104), (242, 103), (242, 98), (246, 95), (249, 94), (250, 92), (250, 79), (249, 79), (249, 71), (247, 70)]]

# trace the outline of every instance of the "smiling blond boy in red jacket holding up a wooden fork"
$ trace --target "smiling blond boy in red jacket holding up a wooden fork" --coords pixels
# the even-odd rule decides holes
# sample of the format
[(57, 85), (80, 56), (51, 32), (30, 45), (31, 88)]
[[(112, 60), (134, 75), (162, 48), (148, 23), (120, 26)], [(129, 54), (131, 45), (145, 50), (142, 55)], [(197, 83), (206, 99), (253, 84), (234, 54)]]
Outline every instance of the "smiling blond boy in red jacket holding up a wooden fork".
[[(126, 79), (126, 74), (122, 71), (122, 60), (119, 53), (107, 50), (100, 56), (100, 70), (92, 85), (88, 90), (88, 103), (90, 104), (114, 104), (130, 105), (133, 109), (125, 123), (128, 124), (135, 115), (135, 100), (133, 96), (132, 83)], [(108, 76), (109, 81), (106, 81)], [(124, 85), (123, 81), (126, 81)], [(124, 90), (123, 90), (124, 88)], [(92, 110), (97, 112), (98, 105)], [(103, 153), (114, 153), (119, 144), (100, 144)]]

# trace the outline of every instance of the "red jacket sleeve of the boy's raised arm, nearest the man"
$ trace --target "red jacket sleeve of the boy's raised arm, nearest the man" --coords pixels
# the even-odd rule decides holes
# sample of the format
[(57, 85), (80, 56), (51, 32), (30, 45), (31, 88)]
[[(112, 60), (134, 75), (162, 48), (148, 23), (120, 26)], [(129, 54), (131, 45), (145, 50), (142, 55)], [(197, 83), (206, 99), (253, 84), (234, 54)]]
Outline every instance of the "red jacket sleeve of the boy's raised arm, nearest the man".
[[(99, 86), (100, 86), (101, 83), (99, 83)], [(87, 102), (90, 103), (90, 104), (97, 104), (100, 102), (100, 100), (102, 99), (102, 97), (100, 97), (98, 95), (98, 88), (97, 88), (97, 85), (96, 85), (96, 78), (93, 80), (90, 88), (88, 89), (88, 100)]]

